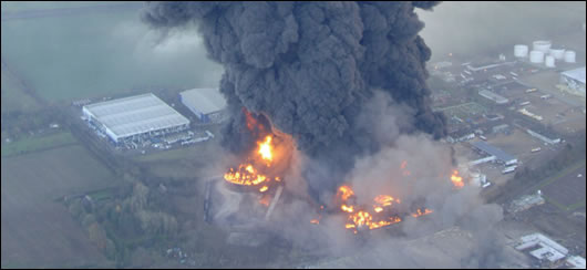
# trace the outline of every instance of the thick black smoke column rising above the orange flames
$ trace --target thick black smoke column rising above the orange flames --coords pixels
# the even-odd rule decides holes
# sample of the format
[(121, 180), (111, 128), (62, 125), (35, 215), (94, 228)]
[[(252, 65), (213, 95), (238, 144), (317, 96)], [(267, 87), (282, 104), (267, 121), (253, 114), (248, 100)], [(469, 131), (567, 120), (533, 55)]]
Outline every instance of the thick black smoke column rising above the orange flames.
[(255, 146), (243, 107), (290, 134), (328, 175), (309, 169), (310, 191), (334, 190), (354, 158), (377, 152), (359, 114), (375, 90), (413, 108), (399, 133), (444, 135), (425, 84), (430, 49), (414, 8), (436, 2), (150, 2), (143, 19), (172, 28), (195, 22), (209, 56), (225, 68), (220, 92), (233, 113), (224, 142)]

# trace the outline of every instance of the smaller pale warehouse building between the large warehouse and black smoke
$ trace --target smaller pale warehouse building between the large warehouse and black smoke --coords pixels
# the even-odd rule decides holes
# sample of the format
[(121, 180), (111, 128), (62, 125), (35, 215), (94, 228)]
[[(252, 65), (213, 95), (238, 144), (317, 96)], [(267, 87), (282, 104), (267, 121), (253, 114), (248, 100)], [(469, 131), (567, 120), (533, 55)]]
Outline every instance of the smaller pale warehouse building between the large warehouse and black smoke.
[(226, 101), (218, 89), (193, 89), (179, 93), (182, 103), (203, 123), (213, 123), (222, 115)]

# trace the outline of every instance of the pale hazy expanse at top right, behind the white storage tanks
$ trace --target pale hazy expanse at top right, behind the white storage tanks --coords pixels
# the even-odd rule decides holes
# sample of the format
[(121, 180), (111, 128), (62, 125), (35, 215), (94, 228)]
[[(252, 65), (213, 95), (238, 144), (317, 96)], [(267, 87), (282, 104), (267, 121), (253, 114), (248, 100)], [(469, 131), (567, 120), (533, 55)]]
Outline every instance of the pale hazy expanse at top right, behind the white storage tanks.
[[(425, 22), (421, 35), (432, 59), (449, 52), (467, 54), (503, 44), (553, 40), (583, 32), (585, 2), (443, 2), (433, 11), (418, 10)], [(583, 46), (585, 46), (585, 34)], [(579, 42), (579, 41), (577, 41)], [(570, 45), (570, 44), (569, 44)], [(577, 59), (585, 54), (577, 54)]]

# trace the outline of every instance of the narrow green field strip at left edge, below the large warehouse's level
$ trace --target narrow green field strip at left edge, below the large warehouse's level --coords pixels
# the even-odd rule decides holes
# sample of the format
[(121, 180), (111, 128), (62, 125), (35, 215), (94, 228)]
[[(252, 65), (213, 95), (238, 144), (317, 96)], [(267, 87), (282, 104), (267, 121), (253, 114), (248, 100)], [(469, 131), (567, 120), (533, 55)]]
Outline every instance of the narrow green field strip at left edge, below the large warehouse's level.
[(2, 143), (2, 157), (75, 144), (76, 142), (69, 132), (23, 138), (10, 144)]

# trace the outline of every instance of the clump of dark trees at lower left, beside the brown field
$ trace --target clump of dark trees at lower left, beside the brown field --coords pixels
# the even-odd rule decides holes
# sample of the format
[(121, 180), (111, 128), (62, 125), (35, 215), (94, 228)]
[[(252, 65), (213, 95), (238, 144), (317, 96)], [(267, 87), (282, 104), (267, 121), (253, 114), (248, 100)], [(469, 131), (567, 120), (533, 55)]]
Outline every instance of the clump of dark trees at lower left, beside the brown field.
[(164, 189), (150, 188), (130, 175), (124, 178), (126, 183), (111, 189), (106, 199), (86, 195), (65, 201), (91, 241), (117, 267), (134, 264), (137, 248), (148, 257), (158, 256), (144, 247), (172, 241), (179, 232), (177, 219), (165, 210)]

